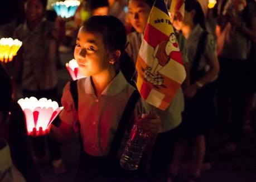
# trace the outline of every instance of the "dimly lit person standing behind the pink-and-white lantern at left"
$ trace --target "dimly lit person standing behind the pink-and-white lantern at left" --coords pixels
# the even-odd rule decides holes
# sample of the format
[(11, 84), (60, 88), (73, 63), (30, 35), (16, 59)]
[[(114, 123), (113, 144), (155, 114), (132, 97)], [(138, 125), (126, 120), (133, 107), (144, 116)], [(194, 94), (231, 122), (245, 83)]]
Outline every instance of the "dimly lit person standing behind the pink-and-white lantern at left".
[[(57, 29), (54, 23), (45, 21), (44, 13), (47, 0), (27, 0), (25, 2), (25, 23), (18, 26), (13, 35), (22, 41), (15, 60), (13, 79), (21, 78), (24, 97), (57, 100)], [(37, 158), (45, 156), (45, 138), (34, 138)], [(50, 156), (56, 173), (61, 173), (62, 164), (59, 145), (51, 139)], [(60, 171), (58, 171), (61, 169)]]

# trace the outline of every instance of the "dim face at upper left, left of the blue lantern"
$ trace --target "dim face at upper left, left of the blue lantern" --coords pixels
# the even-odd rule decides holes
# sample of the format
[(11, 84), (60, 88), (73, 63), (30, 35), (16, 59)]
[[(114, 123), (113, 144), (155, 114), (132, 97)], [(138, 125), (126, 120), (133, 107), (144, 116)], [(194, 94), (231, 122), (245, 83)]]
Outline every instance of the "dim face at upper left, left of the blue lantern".
[(28, 0), (25, 3), (25, 14), (28, 22), (41, 21), (44, 12), (44, 6), (39, 0)]

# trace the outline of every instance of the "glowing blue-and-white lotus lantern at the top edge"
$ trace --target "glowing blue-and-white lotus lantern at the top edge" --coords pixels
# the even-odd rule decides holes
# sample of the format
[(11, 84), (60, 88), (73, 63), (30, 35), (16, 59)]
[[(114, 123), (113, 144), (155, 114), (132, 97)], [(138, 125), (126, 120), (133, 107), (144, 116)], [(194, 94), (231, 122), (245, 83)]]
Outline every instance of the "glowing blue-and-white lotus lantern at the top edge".
[(80, 1), (78, 0), (57, 1), (51, 4), (57, 15), (61, 18), (73, 17), (79, 5)]

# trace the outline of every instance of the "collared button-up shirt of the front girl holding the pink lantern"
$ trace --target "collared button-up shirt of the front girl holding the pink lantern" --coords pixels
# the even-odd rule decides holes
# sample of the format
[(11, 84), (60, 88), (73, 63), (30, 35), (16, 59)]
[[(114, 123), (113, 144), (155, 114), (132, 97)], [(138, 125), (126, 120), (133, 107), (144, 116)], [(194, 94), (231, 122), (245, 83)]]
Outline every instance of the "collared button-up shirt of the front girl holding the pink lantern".
[(60, 119), (73, 126), (75, 132), (78, 132), (76, 124), (80, 122), (80, 134), (86, 153), (93, 156), (107, 155), (119, 120), (134, 88), (119, 72), (103, 93), (96, 97), (91, 85), (91, 77), (79, 79), (78, 113), (69, 89), (70, 83), (67, 83), (61, 99), (64, 110), (60, 113)]

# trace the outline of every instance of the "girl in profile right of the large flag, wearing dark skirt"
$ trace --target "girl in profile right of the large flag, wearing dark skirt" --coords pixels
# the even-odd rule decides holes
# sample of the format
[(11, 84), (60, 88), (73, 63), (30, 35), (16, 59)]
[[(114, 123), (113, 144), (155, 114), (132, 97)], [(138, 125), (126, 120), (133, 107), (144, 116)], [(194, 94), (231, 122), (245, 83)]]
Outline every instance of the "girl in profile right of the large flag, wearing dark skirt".
[(182, 21), (174, 20), (173, 26), (187, 39), (189, 58), (189, 87), (184, 89), (185, 111), (171, 163), (170, 174), (178, 175), (182, 154), (192, 142), (190, 180), (199, 181), (202, 161), (205, 156), (205, 134), (214, 122), (213, 85), (219, 72), (214, 37), (205, 32), (204, 14), (197, 1), (186, 1)]

